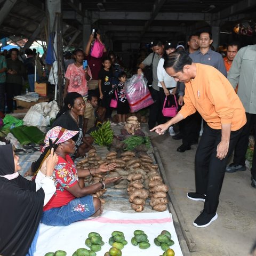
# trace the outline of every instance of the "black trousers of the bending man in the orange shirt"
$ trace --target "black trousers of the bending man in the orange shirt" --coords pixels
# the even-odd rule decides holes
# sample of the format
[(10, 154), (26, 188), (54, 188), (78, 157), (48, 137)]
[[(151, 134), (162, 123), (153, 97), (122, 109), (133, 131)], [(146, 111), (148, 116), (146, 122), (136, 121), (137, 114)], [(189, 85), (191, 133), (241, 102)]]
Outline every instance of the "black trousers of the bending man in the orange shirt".
[(219, 204), (219, 195), (225, 175), (228, 157), (232, 153), (242, 132), (242, 128), (231, 131), (228, 154), (220, 160), (216, 157), (217, 146), (221, 141), (221, 130), (214, 130), (207, 124), (196, 150), (195, 178), (196, 192), (206, 195), (204, 210), (215, 213)]

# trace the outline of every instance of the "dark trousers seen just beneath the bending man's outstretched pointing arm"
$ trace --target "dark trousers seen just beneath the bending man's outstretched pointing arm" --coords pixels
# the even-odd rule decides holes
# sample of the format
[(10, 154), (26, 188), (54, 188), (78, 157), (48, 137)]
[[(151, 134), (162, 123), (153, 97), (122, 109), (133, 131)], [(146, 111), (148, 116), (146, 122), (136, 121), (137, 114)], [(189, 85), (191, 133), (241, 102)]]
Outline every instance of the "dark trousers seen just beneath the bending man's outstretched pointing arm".
[(183, 145), (190, 146), (191, 141), (198, 140), (201, 122), (202, 117), (197, 111), (195, 114), (186, 117), (180, 122), (180, 132), (183, 134)]

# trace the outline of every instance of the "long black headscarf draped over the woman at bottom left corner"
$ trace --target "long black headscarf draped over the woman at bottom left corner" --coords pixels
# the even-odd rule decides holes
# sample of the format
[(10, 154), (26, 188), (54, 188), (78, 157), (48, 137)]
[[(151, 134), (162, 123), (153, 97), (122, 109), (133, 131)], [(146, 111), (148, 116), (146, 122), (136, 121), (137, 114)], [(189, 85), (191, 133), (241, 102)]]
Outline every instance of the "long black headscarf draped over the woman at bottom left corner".
[[(14, 173), (12, 145), (0, 146), (0, 175)], [(34, 239), (44, 204), (44, 190), (19, 175), (0, 177), (0, 254), (25, 256)]]

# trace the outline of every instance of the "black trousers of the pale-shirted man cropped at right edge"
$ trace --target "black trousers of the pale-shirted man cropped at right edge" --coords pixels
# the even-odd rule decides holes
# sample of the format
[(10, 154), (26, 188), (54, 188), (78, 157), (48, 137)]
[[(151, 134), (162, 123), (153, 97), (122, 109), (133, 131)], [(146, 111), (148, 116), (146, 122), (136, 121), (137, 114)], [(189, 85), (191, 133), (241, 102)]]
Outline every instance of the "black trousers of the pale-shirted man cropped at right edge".
[[(243, 127), (242, 133), (237, 141), (234, 152), (234, 163), (239, 165), (245, 165), (245, 155), (249, 143), (249, 135), (253, 125), (256, 123), (256, 114), (245, 113), (247, 122)], [(255, 136), (255, 134), (254, 134)], [(253, 164), (252, 170), (254, 170), (254, 175), (256, 178), (256, 151), (254, 145), (254, 154), (253, 154)], [(253, 177), (254, 177), (253, 175)]]

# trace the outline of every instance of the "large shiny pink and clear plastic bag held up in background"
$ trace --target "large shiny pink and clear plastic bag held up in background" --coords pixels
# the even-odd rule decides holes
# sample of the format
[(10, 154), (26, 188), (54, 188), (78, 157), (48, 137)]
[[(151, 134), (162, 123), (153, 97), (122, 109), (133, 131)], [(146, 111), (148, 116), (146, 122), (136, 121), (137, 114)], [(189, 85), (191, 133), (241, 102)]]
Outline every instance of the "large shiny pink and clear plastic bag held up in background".
[(124, 86), (130, 112), (134, 113), (154, 103), (143, 75), (133, 75)]

